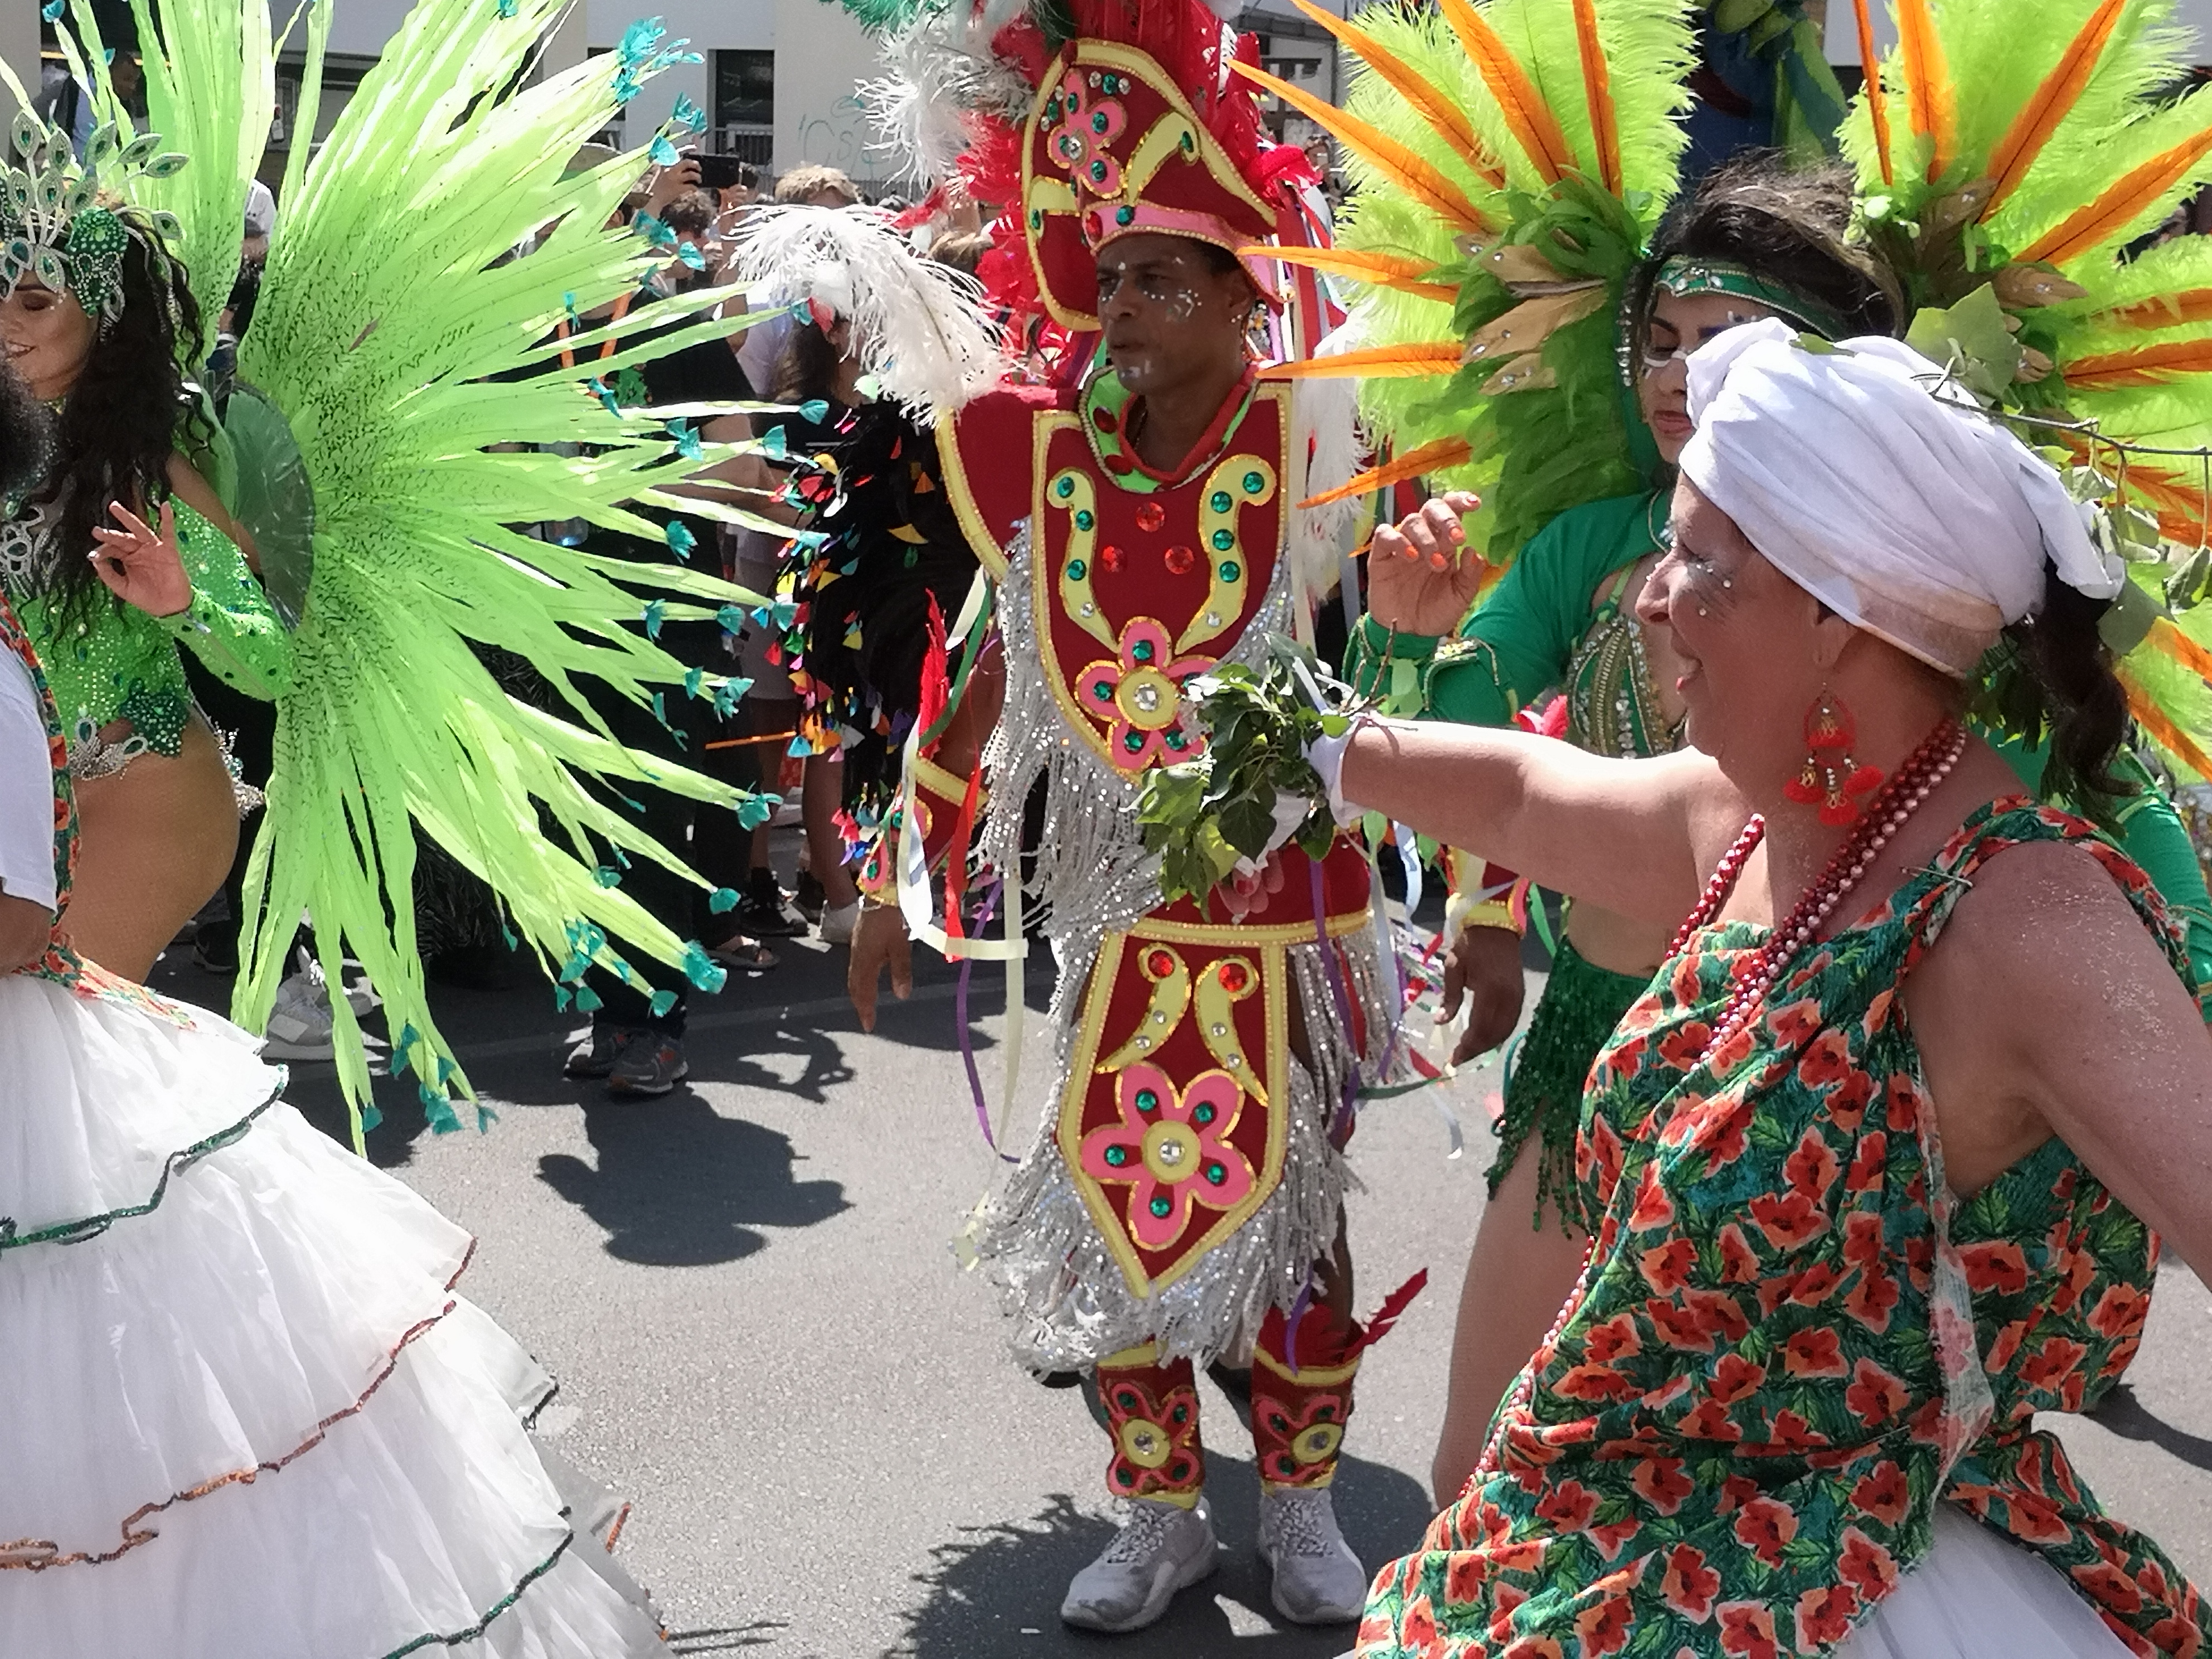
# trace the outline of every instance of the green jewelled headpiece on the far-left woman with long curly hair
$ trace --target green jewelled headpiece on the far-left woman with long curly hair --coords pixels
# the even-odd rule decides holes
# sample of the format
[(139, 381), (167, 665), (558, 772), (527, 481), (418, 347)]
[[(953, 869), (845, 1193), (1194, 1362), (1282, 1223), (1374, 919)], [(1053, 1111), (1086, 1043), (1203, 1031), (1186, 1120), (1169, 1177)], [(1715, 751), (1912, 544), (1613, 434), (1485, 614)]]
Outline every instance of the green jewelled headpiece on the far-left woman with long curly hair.
[(131, 241), (144, 241), (166, 263), (161, 239), (177, 237), (173, 215), (124, 206), (128, 184), (166, 179), (184, 157), (164, 150), (159, 133), (124, 139), (104, 124), (80, 161), (69, 137), (31, 111), (18, 111), (9, 142), (18, 166), (0, 173), (0, 294), (13, 294), (29, 276), (75, 294), (86, 316), (122, 316)]

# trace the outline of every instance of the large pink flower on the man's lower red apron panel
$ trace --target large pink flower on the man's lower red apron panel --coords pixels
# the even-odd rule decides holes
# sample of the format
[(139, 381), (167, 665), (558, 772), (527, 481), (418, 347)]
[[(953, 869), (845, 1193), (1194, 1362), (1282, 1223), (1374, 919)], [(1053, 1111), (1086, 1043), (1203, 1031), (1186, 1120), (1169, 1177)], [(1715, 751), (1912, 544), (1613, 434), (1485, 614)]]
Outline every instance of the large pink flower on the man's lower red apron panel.
[(1230, 1146), (1243, 1091), (1208, 1071), (1177, 1093), (1159, 1066), (1119, 1079), (1121, 1121), (1084, 1135), (1084, 1175), (1130, 1183), (1128, 1232), (1144, 1250), (1168, 1250), (1190, 1225), (1190, 1206), (1232, 1210), (1252, 1192), (1252, 1164)]

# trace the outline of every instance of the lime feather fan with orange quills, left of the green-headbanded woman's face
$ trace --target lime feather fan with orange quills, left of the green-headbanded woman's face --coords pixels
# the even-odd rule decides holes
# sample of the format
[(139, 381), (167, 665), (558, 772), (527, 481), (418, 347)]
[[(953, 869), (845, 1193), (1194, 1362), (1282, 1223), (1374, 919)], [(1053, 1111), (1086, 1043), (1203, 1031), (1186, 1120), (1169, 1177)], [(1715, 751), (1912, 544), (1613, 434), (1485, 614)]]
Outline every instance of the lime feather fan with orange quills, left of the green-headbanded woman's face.
[(1615, 325), (1674, 192), (1690, 7), (1310, 15), (1360, 60), (1340, 113), (1305, 111), (1358, 181), (1336, 248), (1307, 257), (1347, 288), (1356, 347), (1274, 374), (1367, 376), (1360, 411), (1396, 458), (1354, 489), (1482, 491), (1471, 542), (1502, 566), (1553, 515), (1641, 484)]

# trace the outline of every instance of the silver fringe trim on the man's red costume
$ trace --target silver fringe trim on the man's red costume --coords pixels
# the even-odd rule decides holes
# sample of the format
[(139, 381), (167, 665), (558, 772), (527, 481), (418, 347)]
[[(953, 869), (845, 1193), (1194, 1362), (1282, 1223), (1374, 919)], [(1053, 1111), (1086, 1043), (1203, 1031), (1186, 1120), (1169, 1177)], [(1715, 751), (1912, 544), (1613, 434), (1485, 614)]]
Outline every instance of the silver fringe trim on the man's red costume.
[[(1290, 577), (1290, 562), (1279, 560), (1259, 613), (1223, 661), (1256, 664), (1267, 635), (1287, 633)], [(1137, 834), (1137, 785), (1068, 730), (1046, 688), (1031, 582), (1033, 551), (1022, 524), (1006, 546), (998, 593), (1006, 706), (984, 754), (993, 810), (980, 845), (993, 869), (1020, 869), (1022, 805), (1044, 779), (1031, 902), (1064, 971), (1048, 1013), (1055, 1064), (1044, 1117), (1029, 1155), (984, 1206), (975, 1254), (1015, 1323), (1015, 1358), (1035, 1371), (1088, 1369), (1146, 1340), (1203, 1365), (1250, 1340), (1270, 1307), (1290, 1310), (1312, 1265), (1336, 1243), (1345, 1192), (1358, 1181), (1327, 1130), (1347, 1082), (1371, 1082), (1383, 1071), (1391, 1033), (1385, 982), (1371, 931), (1338, 940), (1352, 962), (1343, 993), (1365, 1018), (1367, 1042), (1356, 1044), (1321, 945), (1290, 947), (1290, 995), (1303, 1013), (1312, 1064), (1292, 1055), (1290, 1099), (1279, 1104), (1290, 1113), (1283, 1179), (1197, 1267), (1164, 1292), (1135, 1296), (1060, 1157), (1055, 1130), (1088, 967), (1106, 933), (1128, 931), (1159, 907), (1159, 860)], [(1201, 1221), (1203, 1212), (1192, 1225)]]

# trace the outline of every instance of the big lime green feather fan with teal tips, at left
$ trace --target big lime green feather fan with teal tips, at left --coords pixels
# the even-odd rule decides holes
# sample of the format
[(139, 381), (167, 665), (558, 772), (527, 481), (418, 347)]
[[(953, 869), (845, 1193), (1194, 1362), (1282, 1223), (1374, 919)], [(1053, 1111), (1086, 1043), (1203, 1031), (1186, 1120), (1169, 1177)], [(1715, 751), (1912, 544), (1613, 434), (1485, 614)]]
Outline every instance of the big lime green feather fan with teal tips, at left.
[[(148, 62), (148, 86), (168, 100), (164, 119), (221, 139), (186, 168), (199, 184), (173, 204), (197, 296), (219, 305), (246, 177), (268, 133), (259, 86), (270, 42), (246, 18), (263, 0), (135, 4), (142, 38), (157, 24), (168, 42), (159, 71)], [(624, 369), (726, 338), (743, 321), (714, 316), (734, 290), (637, 305), (619, 330), (588, 321), (635, 294), (666, 254), (608, 228), (646, 150), (580, 173), (568, 161), (677, 53), (657, 24), (637, 24), (617, 53), (524, 84), (562, 7), (422, 0), (407, 15), (314, 159), (294, 144), (239, 349), (241, 396), (281, 416), (312, 487), (312, 535), (301, 535), (312, 573), (248, 872), (254, 927), (234, 1013), (246, 1024), (268, 1018), (305, 914), (327, 978), (336, 982), (349, 956), (380, 993), (394, 1068), (416, 1073), (434, 1128), (456, 1126), (451, 1095), (471, 1091), (427, 1006), (411, 907), (416, 827), (493, 887), (566, 1002), (591, 962), (644, 984), (611, 936), (695, 984), (721, 982), (697, 942), (622, 889), (639, 858), (706, 885), (637, 827), (633, 785), (748, 821), (768, 807), (624, 750), (580, 690), (582, 679), (608, 684), (677, 730), (728, 708), (741, 684), (686, 670), (650, 635), (661, 619), (710, 617), (759, 595), (686, 568), (688, 546), (672, 544), (668, 564), (637, 564), (518, 529), (586, 520), (661, 542), (635, 504), (776, 529), (741, 507), (670, 493), (743, 449), (703, 445), (690, 429), (714, 409), (648, 411), (615, 396)], [(301, 133), (316, 124), (325, 35), (327, 0), (307, 13)], [(241, 108), (259, 122), (248, 135), (228, 126)], [(653, 157), (668, 159), (661, 150), (666, 135)], [(199, 221), (206, 234), (192, 230)], [(566, 453), (549, 453), (553, 445)], [(471, 646), (529, 659), (575, 721), (507, 697)], [(361, 1033), (343, 1000), (332, 1011), (341, 1084), (358, 1106), (369, 1088)]]

